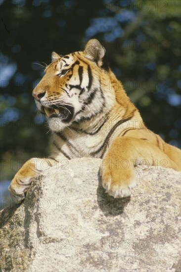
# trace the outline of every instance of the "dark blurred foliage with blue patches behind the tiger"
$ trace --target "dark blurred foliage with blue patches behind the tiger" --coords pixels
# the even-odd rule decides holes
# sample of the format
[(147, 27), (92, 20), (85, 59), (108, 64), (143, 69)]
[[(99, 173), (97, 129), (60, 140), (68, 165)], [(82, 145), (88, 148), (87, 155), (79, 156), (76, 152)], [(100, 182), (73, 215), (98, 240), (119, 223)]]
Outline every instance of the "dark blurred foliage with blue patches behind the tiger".
[(0, 209), (23, 163), (49, 154), (31, 92), (52, 51), (98, 39), (146, 126), (181, 147), (180, 0), (0, 0), (0, 12)]

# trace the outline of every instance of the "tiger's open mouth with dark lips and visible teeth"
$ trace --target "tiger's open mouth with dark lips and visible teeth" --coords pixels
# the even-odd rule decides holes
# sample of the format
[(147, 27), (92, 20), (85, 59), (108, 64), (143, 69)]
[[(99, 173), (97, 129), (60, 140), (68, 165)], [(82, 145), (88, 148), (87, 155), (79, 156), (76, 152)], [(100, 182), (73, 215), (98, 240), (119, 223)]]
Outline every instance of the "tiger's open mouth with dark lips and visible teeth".
[(60, 118), (64, 122), (70, 122), (74, 115), (74, 107), (72, 106), (54, 106), (43, 107), (48, 118)]

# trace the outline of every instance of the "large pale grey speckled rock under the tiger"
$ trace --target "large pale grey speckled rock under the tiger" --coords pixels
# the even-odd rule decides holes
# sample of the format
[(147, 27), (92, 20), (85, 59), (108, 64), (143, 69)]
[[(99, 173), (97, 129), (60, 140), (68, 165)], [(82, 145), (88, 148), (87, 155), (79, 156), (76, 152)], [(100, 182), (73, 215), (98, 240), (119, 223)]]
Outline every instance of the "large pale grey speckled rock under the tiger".
[(2, 272), (180, 271), (181, 173), (136, 167), (131, 198), (114, 199), (100, 162), (54, 166), (21, 205), (2, 211)]

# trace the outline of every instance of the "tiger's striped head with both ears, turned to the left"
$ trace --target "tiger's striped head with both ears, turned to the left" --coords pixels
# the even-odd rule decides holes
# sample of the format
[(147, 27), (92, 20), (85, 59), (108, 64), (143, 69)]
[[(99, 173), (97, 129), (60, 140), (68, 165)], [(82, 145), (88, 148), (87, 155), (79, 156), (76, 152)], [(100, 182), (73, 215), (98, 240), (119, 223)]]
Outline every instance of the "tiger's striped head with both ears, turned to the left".
[[(104, 55), (104, 47), (95, 39), (87, 43), (84, 51), (65, 56), (52, 52), (52, 62), (32, 94), (52, 131), (110, 110), (114, 98), (107, 90), (111, 71)], [(107, 89), (102, 88), (103, 82)]]

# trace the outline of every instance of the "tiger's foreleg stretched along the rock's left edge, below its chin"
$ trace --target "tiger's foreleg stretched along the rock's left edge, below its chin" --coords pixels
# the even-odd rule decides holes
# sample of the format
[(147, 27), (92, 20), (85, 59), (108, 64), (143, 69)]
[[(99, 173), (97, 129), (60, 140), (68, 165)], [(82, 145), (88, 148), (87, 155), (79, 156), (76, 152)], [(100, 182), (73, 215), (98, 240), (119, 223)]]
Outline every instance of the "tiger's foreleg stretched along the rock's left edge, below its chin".
[(13, 201), (15, 203), (20, 203), (25, 198), (26, 192), (28, 191), (33, 178), (54, 165), (59, 167), (59, 163), (61, 162), (62, 160), (54, 158), (32, 158), (28, 160), (16, 173), (8, 187)]

